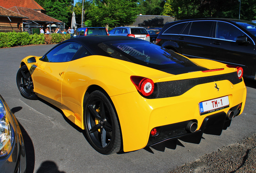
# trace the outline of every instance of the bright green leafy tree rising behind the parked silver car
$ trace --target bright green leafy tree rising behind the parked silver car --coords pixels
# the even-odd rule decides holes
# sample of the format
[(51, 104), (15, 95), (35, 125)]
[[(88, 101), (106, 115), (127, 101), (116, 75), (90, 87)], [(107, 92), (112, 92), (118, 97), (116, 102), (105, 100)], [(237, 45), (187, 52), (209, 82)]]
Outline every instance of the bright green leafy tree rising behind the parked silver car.
[(92, 0), (88, 12), (93, 26), (124, 26), (135, 21), (138, 14), (136, 0)]

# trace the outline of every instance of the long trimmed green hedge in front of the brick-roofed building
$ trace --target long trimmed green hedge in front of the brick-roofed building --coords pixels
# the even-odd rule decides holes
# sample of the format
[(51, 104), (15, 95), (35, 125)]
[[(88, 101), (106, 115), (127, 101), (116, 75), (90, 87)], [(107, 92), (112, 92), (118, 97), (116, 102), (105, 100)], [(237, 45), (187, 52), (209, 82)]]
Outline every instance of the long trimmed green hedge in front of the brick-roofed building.
[(53, 44), (68, 40), (70, 34), (31, 34), (27, 32), (0, 32), (0, 48), (29, 44)]

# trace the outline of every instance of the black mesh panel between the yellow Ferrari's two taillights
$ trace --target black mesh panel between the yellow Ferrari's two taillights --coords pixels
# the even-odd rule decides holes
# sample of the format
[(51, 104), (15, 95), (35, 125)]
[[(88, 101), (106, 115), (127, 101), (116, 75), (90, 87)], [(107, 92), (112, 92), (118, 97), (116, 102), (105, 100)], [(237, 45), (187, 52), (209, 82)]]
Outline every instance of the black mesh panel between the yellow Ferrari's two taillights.
[(200, 78), (190, 78), (183, 80), (172, 80), (167, 82), (155, 83), (155, 89), (152, 95), (146, 97), (147, 99), (159, 99), (165, 97), (175, 97), (186, 93), (194, 86), (209, 82), (216, 82), (220, 80), (229, 80), (232, 84), (242, 82), (242, 78), (237, 77), (237, 72), (220, 74), (215, 76), (207, 76)]

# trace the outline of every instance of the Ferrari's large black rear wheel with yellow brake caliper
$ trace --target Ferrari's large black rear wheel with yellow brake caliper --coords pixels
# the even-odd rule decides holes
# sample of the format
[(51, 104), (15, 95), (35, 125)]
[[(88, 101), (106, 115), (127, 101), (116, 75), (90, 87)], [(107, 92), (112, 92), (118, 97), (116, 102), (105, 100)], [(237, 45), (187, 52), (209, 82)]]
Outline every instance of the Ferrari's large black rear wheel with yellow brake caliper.
[(117, 153), (121, 135), (116, 113), (101, 91), (93, 91), (85, 102), (85, 131), (91, 146), (101, 154)]

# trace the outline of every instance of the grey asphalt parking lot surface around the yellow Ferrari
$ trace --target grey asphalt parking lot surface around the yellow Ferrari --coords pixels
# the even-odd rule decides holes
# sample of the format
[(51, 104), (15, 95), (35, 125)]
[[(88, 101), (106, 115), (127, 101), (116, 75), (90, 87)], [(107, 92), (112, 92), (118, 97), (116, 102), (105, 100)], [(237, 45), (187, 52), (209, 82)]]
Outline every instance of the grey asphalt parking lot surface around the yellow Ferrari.
[[(71, 123), (56, 107), (23, 98), (16, 84), (21, 59), (42, 56), (54, 45), (21, 46), (0, 49), (0, 94), (14, 112), (27, 152), (27, 172), (168, 172), (198, 157), (217, 151), (256, 133), (256, 82), (246, 80), (244, 112), (232, 120), (221, 136), (203, 135), (199, 145), (180, 141), (176, 149), (140, 149), (129, 153), (101, 155), (89, 145), (84, 131)], [(124, 103), (125, 106), (125, 103)]]

